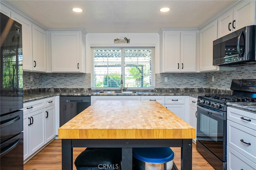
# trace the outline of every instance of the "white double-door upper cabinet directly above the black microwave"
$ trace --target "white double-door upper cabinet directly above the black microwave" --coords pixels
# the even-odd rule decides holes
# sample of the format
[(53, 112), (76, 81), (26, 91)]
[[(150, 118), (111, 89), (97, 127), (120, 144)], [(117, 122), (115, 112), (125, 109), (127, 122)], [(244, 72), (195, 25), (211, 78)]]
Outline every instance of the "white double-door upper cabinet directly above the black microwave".
[(218, 17), (218, 38), (255, 24), (255, 0), (245, 0)]

